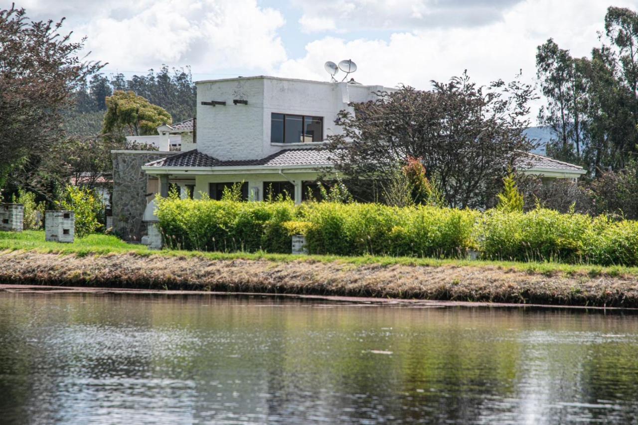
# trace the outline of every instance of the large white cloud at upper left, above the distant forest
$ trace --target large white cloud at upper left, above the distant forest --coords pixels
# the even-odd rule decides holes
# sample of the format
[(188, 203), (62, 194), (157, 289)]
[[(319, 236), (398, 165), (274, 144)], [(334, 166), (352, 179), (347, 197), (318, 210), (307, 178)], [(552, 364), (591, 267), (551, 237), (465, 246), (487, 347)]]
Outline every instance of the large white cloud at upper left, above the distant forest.
[(70, 13), (64, 29), (86, 35), (89, 59), (108, 62), (112, 70), (165, 63), (204, 72), (269, 72), (286, 59), (277, 33), (285, 24), (283, 15), (260, 8), (256, 0), (87, 0), (76, 11), (69, 10), (68, 1), (52, 0), (59, 8), (49, 0), (27, 1), (31, 16)]

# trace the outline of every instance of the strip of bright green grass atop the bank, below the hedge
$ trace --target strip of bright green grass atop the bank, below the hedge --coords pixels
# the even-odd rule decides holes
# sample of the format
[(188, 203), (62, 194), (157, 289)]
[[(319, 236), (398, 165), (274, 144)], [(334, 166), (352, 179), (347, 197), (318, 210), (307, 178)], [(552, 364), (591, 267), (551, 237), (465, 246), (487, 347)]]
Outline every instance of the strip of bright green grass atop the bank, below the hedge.
[(43, 231), (27, 230), (25, 232), (0, 232), (0, 251), (27, 250), (41, 253), (57, 253), (62, 255), (114, 255), (134, 253), (141, 256), (164, 255), (173, 257), (202, 257), (211, 260), (269, 260), (272, 262), (342, 262), (353, 265), (379, 264), (389, 265), (424, 265), (436, 267), (439, 265), (456, 265), (471, 267), (496, 267), (498, 269), (512, 269), (530, 273), (540, 273), (548, 276), (556, 274), (587, 275), (587, 276), (636, 276), (638, 267), (611, 266), (587, 264), (561, 264), (553, 262), (512, 262), (512, 261), (487, 261), (487, 260), (456, 260), (440, 258), (412, 258), (412, 257), (339, 257), (336, 255), (292, 255), (271, 253), (221, 253), (200, 251), (175, 251), (175, 250), (149, 250), (140, 244), (128, 244), (115, 236), (89, 235), (78, 238), (71, 244), (61, 242), (46, 242)]

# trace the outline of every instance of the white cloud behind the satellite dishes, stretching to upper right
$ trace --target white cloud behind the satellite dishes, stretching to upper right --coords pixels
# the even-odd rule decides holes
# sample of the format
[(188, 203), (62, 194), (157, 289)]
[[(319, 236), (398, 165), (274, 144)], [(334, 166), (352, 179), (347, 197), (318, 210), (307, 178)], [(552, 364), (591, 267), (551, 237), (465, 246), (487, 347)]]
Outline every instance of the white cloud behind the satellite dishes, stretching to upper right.
[[(635, 1), (616, 4), (637, 6)], [(304, 57), (282, 63), (278, 75), (329, 80), (325, 61), (352, 58), (359, 66), (352, 76), (364, 84), (428, 89), (431, 80), (447, 81), (466, 69), (480, 84), (511, 80), (519, 70), (533, 84), (537, 46), (552, 37), (572, 55), (588, 56), (599, 45), (597, 31), (604, 28), (607, 6), (607, 1), (528, 0), (479, 27), (419, 28), (389, 40), (327, 36), (309, 43)]]

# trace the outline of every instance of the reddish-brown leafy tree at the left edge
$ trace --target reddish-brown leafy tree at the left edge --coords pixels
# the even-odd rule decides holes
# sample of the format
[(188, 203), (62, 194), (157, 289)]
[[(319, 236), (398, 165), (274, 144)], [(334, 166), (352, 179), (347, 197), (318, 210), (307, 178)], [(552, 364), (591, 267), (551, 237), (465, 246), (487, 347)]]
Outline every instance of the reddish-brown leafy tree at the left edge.
[(77, 56), (84, 39), (71, 42), (62, 24), (33, 22), (14, 6), (0, 10), (0, 187), (59, 140), (73, 89), (103, 66)]

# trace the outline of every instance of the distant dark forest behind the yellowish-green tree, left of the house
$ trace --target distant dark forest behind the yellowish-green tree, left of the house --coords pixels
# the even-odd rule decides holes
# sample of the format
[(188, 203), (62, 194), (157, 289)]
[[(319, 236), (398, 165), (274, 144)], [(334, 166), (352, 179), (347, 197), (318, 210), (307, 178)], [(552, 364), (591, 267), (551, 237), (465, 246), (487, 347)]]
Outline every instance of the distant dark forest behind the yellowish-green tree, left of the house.
[(64, 129), (70, 136), (88, 137), (99, 134), (107, 110), (105, 99), (115, 90), (133, 91), (158, 105), (177, 123), (195, 117), (197, 92), (189, 68), (169, 70), (168, 66), (147, 75), (126, 78), (122, 73), (91, 76), (75, 91), (75, 107), (67, 112)]

